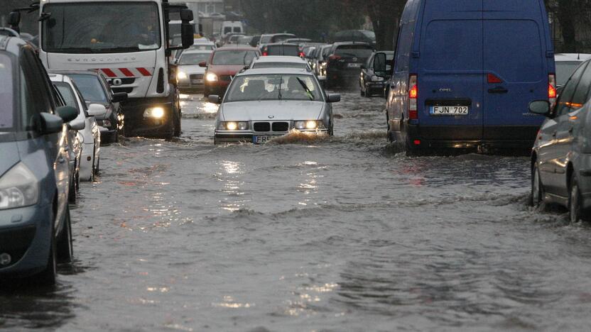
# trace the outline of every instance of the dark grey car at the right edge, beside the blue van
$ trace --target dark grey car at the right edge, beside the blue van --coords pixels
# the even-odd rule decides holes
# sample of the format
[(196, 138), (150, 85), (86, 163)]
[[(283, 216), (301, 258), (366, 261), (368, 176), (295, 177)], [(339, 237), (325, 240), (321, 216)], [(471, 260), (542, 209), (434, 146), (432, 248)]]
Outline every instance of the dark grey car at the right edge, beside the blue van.
[(533, 145), (531, 204), (566, 206), (573, 223), (591, 218), (590, 63), (575, 70), (553, 109), (546, 100), (529, 107), (547, 116)]

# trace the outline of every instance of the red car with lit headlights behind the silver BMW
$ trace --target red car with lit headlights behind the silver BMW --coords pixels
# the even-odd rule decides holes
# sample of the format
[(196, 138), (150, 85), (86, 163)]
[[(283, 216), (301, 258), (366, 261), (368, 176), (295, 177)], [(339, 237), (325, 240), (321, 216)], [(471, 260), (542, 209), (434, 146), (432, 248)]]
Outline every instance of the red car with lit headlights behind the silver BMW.
[(217, 48), (212, 52), (210, 62), (201, 62), (205, 67), (205, 87), (203, 94), (223, 96), (234, 75), (261, 55), (256, 48), (245, 46)]

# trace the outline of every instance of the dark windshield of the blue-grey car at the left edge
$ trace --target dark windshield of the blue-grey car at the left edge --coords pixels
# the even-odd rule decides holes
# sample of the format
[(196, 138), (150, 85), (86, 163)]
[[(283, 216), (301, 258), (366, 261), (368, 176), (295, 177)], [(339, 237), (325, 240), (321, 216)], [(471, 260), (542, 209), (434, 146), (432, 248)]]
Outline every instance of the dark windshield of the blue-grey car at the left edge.
[(0, 52), (0, 131), (11, 131), (15, 120), (13, 62)]

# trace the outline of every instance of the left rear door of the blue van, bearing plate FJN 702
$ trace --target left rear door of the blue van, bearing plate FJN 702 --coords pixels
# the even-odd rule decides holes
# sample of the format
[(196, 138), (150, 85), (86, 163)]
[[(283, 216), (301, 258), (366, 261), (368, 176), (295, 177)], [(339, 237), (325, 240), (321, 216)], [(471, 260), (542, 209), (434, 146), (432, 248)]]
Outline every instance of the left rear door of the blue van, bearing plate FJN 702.
[(421, 135), (481, 140), (482, 0), (425, 2), (420, 50), (411, 53), (419, 70), (410, 72), (418, 74)]

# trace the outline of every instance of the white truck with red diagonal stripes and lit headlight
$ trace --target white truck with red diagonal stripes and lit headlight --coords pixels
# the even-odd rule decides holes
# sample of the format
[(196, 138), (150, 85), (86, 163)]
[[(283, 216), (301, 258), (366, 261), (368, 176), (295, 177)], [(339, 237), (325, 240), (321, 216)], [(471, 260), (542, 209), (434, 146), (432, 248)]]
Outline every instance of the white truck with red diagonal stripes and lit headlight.
[[(168, 0), (43, 0), (28, 11), (36, 9), (39, 57), (48, 70), (97, 70), (113, 92), (126, 92), (127, 136), (180, 135), (175, 66), (168, 59), (193, 45), (192, 11)], [(173, 13), (182, 21), (180, 45), (171, 45)], [(11, 23), (18, 21), (20, 14)]]

